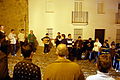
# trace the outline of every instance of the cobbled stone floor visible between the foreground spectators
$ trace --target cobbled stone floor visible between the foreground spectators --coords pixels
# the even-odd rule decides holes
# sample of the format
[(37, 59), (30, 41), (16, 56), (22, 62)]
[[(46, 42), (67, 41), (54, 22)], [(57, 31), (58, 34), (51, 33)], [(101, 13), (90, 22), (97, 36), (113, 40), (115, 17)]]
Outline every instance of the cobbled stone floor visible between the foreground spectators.
[[(9, 55), (8, 58), (8, 67), (9, 67), (9, 74), (12, 77), (13, 75), (13, 69), (16, 63), (21, 61), (23, 57), (20, 56), (20, 50), (17, 53), (17, 56), (12, 57)], [(49, 54), (43, 54), (43, 47), (38, 47), (35, 55), (33, 56), (33, 63), (38, 65), (41, 68), (42, 74), (44, 74), (45, 67), (54, 62), (57, 59), (57, 56), (55, 54), (55, 48), (51, 49)], [(88, 60), (80, 60), (80, 61), (74, 61), (78, 63), (81, 66), (81, 69), (85, 75), (85, 77), (89, 75), (96, 74), (96, 67), (95, 64), (89, 62)], [(110, 75), (114, 77), (116, 80), (120, 80), (120, 73), (115, 72), (115, 70), (110, 71)]]

